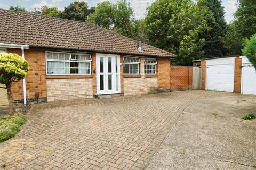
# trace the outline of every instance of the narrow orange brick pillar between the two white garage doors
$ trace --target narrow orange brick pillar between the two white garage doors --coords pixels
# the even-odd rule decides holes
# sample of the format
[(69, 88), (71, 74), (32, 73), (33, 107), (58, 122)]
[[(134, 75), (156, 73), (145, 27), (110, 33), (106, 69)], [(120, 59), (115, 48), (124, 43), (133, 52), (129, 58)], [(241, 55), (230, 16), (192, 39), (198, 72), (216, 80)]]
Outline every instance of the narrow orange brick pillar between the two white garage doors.
[(238, 56), (235, 58), (235, 79), (234, 79), (234, 92), (241, 92), (241, 75), (242, 75), (242, 59)]

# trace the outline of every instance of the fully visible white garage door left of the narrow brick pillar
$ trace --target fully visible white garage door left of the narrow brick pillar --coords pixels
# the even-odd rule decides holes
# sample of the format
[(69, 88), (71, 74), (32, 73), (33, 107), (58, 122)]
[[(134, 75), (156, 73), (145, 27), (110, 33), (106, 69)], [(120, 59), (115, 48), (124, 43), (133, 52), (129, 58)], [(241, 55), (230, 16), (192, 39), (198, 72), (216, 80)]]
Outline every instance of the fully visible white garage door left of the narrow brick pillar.
[(206, 60), (206, 90), (234, 91), (235, 58)]

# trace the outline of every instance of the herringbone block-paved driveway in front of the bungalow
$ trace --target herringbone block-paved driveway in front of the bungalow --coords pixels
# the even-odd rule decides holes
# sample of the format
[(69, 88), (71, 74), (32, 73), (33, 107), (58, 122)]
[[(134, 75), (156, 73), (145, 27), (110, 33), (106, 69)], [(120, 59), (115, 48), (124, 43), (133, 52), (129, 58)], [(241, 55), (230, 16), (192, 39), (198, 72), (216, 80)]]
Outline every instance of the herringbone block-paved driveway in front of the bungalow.
[(198, 90), (38, 104), (21, 132), (0, 144), (1, 167), (145, 169), (183, 109), (226, 95)]

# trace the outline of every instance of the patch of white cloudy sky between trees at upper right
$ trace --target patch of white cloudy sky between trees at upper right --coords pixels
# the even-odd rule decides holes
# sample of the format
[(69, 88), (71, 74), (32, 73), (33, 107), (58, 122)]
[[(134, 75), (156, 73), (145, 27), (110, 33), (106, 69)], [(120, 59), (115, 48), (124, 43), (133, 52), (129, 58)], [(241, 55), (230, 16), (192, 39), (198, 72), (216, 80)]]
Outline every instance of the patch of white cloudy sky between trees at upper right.
[(234, 13), (237, 10), (236, 0), (227, 0), (222, 2), (222, 5), (225, 7), (225, 18), (227, 23), (234, 19)]

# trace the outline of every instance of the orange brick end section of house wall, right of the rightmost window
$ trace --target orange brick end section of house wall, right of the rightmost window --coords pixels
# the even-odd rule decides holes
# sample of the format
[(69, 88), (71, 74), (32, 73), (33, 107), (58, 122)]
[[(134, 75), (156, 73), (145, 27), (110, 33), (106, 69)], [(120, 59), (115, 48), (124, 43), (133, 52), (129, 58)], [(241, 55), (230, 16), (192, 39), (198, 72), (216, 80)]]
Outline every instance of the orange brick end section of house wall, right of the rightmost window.
[(158, 91), (170, 90), (170, 58), (157, 58)]

